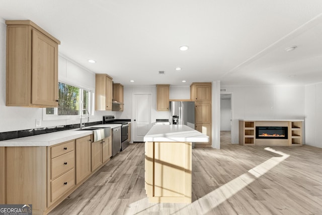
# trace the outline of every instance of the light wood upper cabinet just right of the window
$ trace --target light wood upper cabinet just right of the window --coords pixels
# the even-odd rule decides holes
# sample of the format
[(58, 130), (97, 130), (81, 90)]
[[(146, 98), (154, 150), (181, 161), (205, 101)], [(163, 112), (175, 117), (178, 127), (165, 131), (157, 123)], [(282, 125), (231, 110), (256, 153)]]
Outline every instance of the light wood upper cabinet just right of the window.
[(95, 81), (95, 110), (112, 111), (112, 77), (107, 74), (96, 74)]

